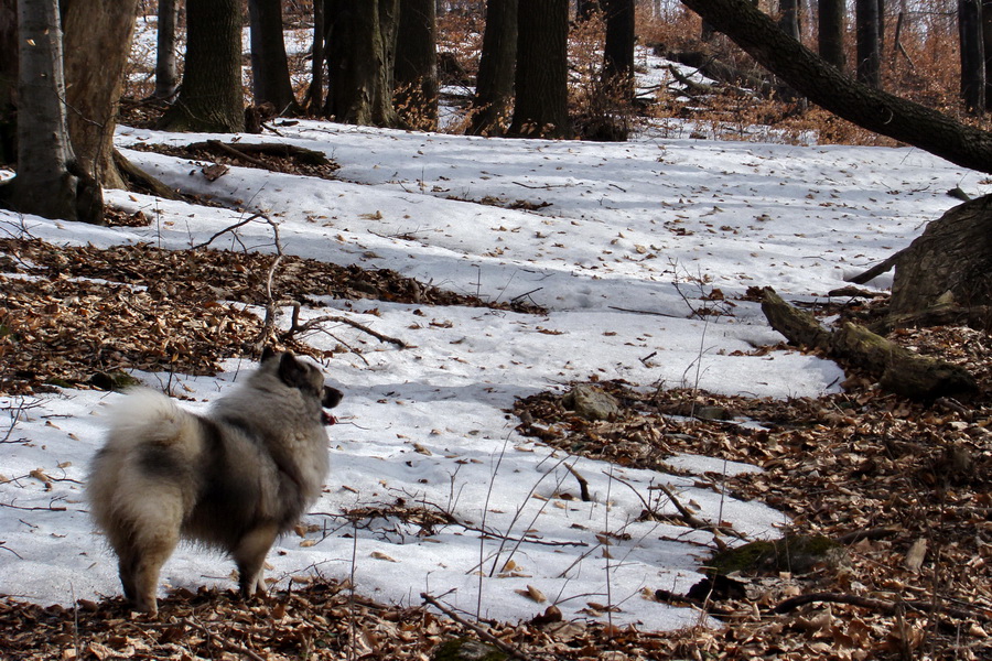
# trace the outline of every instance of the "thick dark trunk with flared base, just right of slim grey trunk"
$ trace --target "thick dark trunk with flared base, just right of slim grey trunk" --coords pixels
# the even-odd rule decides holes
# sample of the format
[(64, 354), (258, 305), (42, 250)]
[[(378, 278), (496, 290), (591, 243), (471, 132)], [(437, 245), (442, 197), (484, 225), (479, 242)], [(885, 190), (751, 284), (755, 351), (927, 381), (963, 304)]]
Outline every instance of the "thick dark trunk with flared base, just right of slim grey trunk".
[(245, 129), (238, 0), (187, 0), (183, 84), (161, 126), (215, 133)]

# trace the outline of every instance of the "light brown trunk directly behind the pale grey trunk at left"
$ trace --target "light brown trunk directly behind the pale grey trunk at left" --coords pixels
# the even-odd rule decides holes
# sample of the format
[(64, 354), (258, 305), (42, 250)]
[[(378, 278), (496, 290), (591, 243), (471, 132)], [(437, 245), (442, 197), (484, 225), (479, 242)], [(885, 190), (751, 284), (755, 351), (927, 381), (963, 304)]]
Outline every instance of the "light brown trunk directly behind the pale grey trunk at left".
[(138, 2), (62, 0), (62, 11), (68, 131), (76, 161), (99, 185), (125, 188), (114, 163), (114, 127)]

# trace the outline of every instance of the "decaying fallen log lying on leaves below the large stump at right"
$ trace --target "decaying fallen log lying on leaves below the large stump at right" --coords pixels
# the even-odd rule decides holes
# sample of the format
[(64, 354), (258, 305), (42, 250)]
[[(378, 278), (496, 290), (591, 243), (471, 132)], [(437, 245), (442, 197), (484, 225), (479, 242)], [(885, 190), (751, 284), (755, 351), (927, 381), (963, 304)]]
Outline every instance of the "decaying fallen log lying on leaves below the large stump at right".
[(810, 313), (786, 303), (772, 288), (763, 292), (762, 312), (789, 343), (820, 349), (856, 366), (877, 378), (883, 390), (920, 401), (978, 391), (974, 377), (962, 367), (920, 356), (850, 322), (829, 330)]

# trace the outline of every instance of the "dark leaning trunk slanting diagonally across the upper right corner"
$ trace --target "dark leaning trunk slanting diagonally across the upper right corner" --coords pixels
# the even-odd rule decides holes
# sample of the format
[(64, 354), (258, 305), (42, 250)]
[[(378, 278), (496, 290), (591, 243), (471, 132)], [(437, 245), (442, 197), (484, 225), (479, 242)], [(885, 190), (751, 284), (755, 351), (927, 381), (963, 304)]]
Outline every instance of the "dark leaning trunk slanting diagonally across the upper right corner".
[(789, 39), (747, 0), (683, 0), (812, 102), (870, 131), (992, 173), (992, 134), (852, 80)]

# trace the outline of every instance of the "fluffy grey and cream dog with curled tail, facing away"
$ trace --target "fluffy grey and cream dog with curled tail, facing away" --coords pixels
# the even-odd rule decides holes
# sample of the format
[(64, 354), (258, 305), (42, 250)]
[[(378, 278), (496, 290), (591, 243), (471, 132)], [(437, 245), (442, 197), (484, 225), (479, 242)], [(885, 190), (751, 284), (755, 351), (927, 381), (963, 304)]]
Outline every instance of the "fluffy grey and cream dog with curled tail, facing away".
[(333, 422), (323, 409), (341, 398), (315, 366), (266, 350), (207, 415), (152, 390), (111, 412), (87, 496), (134, 608), (158, 611), (159, 571), (181, 538), (230, 554), (244, 596), (265, 592), (266, 554), (321, 494)]

